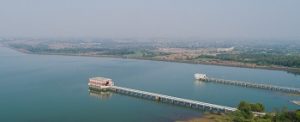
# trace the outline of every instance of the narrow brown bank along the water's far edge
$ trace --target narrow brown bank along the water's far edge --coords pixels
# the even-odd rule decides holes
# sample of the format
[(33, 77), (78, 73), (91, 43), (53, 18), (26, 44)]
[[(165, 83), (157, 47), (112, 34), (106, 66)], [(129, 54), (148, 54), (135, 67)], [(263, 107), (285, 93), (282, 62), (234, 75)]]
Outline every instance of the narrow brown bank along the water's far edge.
[[(146, 58), (146, 57), (125, 57), (125, 56), (116, 56), (116, 55), (91, 55), (91, 54), (69, 54), (69, 53), (33, 53), (27, 50), (21, 50), (17, 48), (12, 48), (9, 46), (2, 45), (2, 47), (7, 47), (12, 50), (16, 50), (25, 54), (33, 55), (61, 55), (61, 56), (80, 56), (80, 57), (103, 57), (103, 58), (118, 58), (118, 59), (135, 59), (135, 60), (148, 60), (148, 61), (162, 61), (162, 62), (175, 62), (175, 63), (185, 63), (185, 64), (202, 64), (202, 65), (212, 65), (212, 66), (226, 66), (226, 67), (238, 67), (238, 68), (249, 68), (249, 69), (265, 69), (265, 70), (275, 70), (275, 71), (286, 71), (287, 73), (293, 73), (295, 75), (300, 75), (300, 68), (293, 67), (284, 67), (284, 66), (263, 66), (242, 62), (203, 62), (203, 61), (191, 61), (191, 60), (163, 60), (155, 58)], [(235, 63), (235, 64), (232, 64)]]

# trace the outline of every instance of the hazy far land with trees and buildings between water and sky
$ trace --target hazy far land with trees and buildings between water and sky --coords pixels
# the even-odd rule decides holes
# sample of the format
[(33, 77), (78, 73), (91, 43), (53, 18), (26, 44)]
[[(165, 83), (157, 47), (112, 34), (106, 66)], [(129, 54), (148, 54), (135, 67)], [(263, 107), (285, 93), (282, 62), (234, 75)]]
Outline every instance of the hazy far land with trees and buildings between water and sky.
[(1, 39), (4, 46), (32, 54), (158, 60), (284, 70), (300, 73), (300, 43), (190, 39)]

